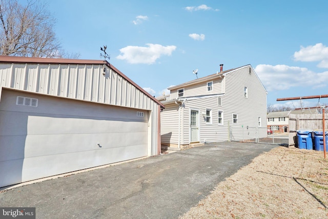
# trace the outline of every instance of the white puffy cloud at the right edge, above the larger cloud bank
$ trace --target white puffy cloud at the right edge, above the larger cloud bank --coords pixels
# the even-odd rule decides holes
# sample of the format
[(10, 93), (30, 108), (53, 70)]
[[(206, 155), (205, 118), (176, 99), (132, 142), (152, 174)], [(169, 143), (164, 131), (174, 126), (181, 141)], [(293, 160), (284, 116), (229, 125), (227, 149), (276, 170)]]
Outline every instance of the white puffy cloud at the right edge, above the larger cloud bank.
[(295, 61), (302, 62), (320, 62), (318, 67), (328, 68), (328, 47), (322, 43), (318, 43), (314, 46), (301, 46), (298, 52), (294, 53)]

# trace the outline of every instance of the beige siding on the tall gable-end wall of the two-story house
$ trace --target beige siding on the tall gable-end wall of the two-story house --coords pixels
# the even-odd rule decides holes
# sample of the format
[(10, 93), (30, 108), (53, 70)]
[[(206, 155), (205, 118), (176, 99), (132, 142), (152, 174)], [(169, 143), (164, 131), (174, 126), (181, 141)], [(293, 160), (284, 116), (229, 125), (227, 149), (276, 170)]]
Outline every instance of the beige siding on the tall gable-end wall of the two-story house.
[[(229, 72), (225, 77), (225, 93), (222, 97), (224, 109), (224, 123), (230, 121), (231, 131), (235, 140), (243, 137), (243, 127), (258, 127), (258, 117), (261, 126), (267, 127), (267, 93), (259, 81), (256, 73), (244, 66)], [(248, 88), (248, 97), (244, 97), (244, 87)], [(238, 121), (233, 123), (233, 113), (238, 115)], [(266, 129), (260, 129), (261, 136), (267, 136)]]

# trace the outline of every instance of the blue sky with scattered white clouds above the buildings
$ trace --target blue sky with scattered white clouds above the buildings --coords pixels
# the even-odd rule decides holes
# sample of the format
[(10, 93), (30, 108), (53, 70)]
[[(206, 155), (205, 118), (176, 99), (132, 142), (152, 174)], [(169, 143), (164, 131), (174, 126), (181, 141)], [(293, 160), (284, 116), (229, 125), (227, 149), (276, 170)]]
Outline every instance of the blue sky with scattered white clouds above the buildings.
[[(20, 0), (24, 1), (24, 0)], [(328, 94), (328, 1), (56, 0), (49, 11), (63, 49), (103, 59), (154, 96), (251, 64), (277, 98)], [(303, 100), (302, 106), (328, 103)]]

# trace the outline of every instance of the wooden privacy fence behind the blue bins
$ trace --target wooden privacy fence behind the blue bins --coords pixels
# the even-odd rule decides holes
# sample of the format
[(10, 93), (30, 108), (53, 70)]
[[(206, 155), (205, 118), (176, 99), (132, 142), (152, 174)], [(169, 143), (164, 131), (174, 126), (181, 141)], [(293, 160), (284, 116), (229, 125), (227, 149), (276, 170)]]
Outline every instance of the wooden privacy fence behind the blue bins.
[[(328, 116), (325, 114), (325, 130), (328, 129)], [(322, 131), (322, 114), (290, 114), (289, 115), (289, 143), (297, 145), (297, 130)]]

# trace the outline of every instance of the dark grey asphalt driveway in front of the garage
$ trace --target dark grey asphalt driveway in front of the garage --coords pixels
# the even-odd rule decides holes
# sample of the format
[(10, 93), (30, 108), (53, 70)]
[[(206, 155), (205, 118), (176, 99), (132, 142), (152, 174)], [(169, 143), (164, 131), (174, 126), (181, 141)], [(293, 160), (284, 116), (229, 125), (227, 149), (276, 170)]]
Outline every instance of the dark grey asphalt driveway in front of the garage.
[(177, 218), (275, 147), (207, 144), (3, 191), (0, 206), (36, 207), (36, 218)]

